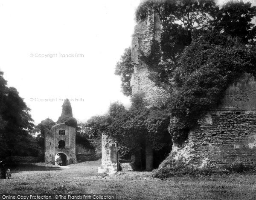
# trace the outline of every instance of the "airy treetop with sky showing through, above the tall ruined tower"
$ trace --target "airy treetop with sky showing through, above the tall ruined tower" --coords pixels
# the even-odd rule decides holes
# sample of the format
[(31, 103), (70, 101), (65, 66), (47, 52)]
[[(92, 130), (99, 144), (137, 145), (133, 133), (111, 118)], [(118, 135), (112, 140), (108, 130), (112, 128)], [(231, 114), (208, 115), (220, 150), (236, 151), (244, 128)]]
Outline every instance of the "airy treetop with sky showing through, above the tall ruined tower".
[[(218, 11), (215, 0), (148, 0), (140, 4), (136, 12), (137, 21), (145, 20), (148, 8), (158, 12), (163, 26), (163, 32), (169, 32), (177, 27), (171, 24), (180, 24), (186, 30), (186, 45), (192, 40), (193, 29), (205, 26)], [(180, 36), (182, 37), (183, 31)], [(173, 40), (175, 41), (175, 40)]]

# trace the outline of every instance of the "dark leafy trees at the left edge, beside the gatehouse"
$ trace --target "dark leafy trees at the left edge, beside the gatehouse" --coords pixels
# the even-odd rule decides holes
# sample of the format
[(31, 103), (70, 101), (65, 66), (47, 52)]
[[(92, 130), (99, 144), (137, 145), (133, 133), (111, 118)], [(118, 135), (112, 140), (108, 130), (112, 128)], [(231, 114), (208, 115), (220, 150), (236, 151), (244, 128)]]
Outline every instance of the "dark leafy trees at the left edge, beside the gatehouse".
[(32, 137), (33, 119), (18, 91), (8, 87), (0, 71), (0, 160), (8, 156), (38, 156), (41, 148)]

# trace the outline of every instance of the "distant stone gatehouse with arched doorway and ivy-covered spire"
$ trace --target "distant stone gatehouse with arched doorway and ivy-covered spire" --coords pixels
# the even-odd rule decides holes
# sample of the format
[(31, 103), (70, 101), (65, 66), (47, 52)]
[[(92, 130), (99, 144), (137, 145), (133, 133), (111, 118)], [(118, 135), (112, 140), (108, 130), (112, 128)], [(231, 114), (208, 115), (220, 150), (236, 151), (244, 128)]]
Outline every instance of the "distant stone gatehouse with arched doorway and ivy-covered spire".
[(61, 158), (63, 166), (76, 163), (76, 128), (60, 122), (63, 117), (68, 117), (70, 111), (72, 116), (71, 104), (66, 99), (57, 125), (53, 126), (51, 130), (45, 129), (44, 131), (45, 163), (57, 165), (58, 158)]

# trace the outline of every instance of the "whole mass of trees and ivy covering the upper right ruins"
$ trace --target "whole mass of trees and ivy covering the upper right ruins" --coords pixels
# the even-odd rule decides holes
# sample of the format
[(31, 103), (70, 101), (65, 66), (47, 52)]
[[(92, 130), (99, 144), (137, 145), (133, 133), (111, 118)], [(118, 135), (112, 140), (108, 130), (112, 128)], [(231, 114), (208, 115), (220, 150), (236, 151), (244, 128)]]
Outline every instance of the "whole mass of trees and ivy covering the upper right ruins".
[(160, 44), (152, 40), (151, 54), (140, 60), (151, 70), (149, 78), (172, 94), (166, 105), (169, 132), (174, 143), (182, 144), (233, 80), (255, 73), (256, 28), (251, 20), (256, 6), (241, 0), (221, 9), (214, 0), (148, 0), (138, 7), (137, 22), (147, 19), (148, 8), (159, 14), (162, 34)]

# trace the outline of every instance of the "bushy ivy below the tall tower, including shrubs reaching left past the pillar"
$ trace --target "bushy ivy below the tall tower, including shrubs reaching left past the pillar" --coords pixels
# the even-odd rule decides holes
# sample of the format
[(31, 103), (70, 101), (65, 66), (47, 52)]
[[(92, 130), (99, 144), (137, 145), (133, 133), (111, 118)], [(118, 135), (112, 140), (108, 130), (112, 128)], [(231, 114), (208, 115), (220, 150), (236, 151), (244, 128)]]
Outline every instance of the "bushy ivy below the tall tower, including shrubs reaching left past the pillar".
[[(113, 137), (123, 158), (131, 157), (145, 148), (149, 141), (156, 151), (167, 154), (171, 149), (171, 137), (168, 133), (169, 114), (165, 108), (147, 107), (143, 94), (134, 95), (129, 109), (120, 103), (111, 104), (108, 114), (95, 116), (87, 121), (91, 138), (99, 138), (105, 132)], [(145, 151), (145, 150), (144, 150)], [(164, 159), (156, 160), (156, 167)]]

